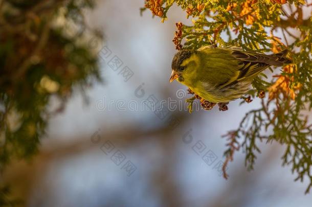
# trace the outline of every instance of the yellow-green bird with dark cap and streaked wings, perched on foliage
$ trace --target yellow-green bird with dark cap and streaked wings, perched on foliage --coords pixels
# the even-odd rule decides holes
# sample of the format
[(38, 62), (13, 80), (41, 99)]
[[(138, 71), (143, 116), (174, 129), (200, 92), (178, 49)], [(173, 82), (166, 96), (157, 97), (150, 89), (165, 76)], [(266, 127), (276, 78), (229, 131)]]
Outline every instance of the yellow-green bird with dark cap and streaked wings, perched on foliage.
[(173, 57), (170, 82), (177, 80), (212, 103), (241, 98), (269, 66), (291, 63), (287, 50), (265, 55), (237, 47), (182, 50)]

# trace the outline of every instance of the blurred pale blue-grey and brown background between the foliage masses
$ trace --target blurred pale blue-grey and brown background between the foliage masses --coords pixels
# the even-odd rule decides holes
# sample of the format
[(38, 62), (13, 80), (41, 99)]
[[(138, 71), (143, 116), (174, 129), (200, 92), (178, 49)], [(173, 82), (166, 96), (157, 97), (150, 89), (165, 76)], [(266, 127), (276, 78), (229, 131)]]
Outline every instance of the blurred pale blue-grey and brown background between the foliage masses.
[(175, 22), (191, 20), (174, 7), (162, 24), (150, 12), (140, 16), (143, 5), (142, 0), (98, 1), (86, 13), (87, 24), (104, 33), (99, 50), (104, 82), (86, 90), (87, 101), (75, 93), (50, 121), (39, 153), (6, 169), (4, 180), (14, 195), (26, 206), (47, 207), (311, 206), (311, 195), (304, 195), (307, 183), (294, 182), (291, 169), (281, 167), (279, 144), (260, 144), (251, 172), (243, 152), (237, 152), (228, 165), (229, 179), (222, 177), (226, 140), (221, 136), (236, 129), (259, 100), (231, 102), (228, 111), (162, 115), (119, 104), (190, 98), (177, 93), (186, 87), (168, 80)]

